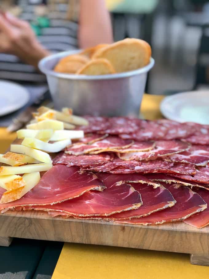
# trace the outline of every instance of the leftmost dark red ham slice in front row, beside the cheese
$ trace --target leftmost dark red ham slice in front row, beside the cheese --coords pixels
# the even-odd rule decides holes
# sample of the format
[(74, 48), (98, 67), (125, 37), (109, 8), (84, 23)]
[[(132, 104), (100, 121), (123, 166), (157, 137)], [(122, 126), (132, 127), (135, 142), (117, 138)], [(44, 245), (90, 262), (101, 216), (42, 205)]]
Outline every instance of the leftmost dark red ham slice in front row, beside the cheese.
[[(49, 169), (38, 184), (21, 199), (0, 204), (0, 210), (21, 205), (45, 205), (73, 199), (86, 191), (103, 190), (103, 182), (95, 174), (79, 173), (78, 167), (56, 165)], [(5, 190), (0, 188), (2, 194)], [(96, 191), (97, 192), (97, 191)]]

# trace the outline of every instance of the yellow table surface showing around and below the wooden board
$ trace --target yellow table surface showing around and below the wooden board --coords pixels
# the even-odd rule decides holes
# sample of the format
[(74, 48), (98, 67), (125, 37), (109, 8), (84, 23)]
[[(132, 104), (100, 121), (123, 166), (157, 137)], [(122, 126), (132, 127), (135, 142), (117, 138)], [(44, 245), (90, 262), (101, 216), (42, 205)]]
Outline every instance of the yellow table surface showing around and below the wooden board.
[[(142, 116), (150, 120), (162, 118), (159, 104), (163, 98), (144, 94)], [(0, 153), (15, 138), (16, 133), (0, 128)], [(208, 278), (208, 274), (209, 267), (190, 264), (189, 254), (65, 243), (52, 278), (198, 279)]]

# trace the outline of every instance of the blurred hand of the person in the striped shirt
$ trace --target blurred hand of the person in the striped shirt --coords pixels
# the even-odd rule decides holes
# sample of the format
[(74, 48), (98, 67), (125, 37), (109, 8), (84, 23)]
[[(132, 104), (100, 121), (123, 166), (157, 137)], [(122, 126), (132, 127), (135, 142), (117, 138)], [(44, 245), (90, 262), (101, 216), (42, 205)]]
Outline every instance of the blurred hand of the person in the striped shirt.
[(0, 14), (0, 52), (14, 54), (35, 67), (49, 55), (38, 42), (30, 24), (9, 13)]

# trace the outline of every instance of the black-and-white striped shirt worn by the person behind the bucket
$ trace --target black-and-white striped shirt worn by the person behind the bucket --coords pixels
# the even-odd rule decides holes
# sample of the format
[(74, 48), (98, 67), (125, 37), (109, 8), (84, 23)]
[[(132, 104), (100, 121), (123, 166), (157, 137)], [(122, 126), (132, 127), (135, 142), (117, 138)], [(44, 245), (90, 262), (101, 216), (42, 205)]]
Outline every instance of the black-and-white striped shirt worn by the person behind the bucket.
[[(35, 9), (42, 0), (17, 0), (21, 8), (19, 18), (33, 23)], [(38, 3), (39, 2), (39, 3)], [(78, 0), (48, 0), (49, 27), (41, 28), (38, 41), (51, 52), (77, 49)], [(70, 18), (70, 19), (67, 19)], [(38, 73), (34, 66), (26, 65), (18, 57), (0, 53), (0, 79), (26, 82), (45, 82), (45, 76)]]

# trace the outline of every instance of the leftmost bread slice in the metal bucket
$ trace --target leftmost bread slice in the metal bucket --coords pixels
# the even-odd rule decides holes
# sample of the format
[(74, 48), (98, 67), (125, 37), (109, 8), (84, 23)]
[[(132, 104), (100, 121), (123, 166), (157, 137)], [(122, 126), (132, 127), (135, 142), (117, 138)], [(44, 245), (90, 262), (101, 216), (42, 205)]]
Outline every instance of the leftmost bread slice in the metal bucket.
[(82, 68), (89, 59), (82, 55), (69, 55), (62, 58), (54, 67), (54, 71), (58, 73), (75, 74), (77, 70)]

